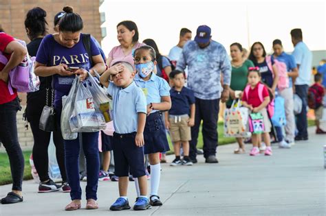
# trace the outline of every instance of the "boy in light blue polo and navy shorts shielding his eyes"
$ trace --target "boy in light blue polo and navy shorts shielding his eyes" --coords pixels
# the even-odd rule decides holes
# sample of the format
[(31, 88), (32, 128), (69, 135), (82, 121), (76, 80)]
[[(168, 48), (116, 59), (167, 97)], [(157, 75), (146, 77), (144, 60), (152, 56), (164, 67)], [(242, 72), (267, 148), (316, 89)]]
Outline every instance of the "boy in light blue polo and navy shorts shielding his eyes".
[[(110, 75), (113, 82), (109, 81)], [(129, 62), (116, 62), (100, 77), (113, 97), (113, 156), (116, 176), (119, 177), (120, 197), (110, 210), (131, 208), (127, 199), (129, 169), (138, 178), (140, 197), (133, 210), (151, 208), (147, 198), (147, 179), (144, 169), (144, 126), (146, 122), (146, 97), (142, 89), (133, 82), (135, 71)]]

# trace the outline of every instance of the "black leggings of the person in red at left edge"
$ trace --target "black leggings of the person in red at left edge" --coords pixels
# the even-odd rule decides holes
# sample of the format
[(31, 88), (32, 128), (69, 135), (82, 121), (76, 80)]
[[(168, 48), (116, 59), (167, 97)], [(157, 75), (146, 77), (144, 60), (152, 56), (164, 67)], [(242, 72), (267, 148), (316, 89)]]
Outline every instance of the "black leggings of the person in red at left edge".
[(24, 157), (18, 141), (17, 111), (21, 110), (18, 97), (0, 104), (0, 140), (10, 161), (12, 190), (21, 191), (24, 173)]

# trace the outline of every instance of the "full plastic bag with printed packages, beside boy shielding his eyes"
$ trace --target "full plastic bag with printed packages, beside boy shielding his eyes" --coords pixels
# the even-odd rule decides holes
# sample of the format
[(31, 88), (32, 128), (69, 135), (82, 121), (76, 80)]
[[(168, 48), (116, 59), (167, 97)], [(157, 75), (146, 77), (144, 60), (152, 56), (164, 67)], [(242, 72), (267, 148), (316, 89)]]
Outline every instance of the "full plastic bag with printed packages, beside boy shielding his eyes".
[(78, 84), (74, 112), (69, 121), (72, 132), (96, 132), (106, 128), (104, 116), (83, 83)]

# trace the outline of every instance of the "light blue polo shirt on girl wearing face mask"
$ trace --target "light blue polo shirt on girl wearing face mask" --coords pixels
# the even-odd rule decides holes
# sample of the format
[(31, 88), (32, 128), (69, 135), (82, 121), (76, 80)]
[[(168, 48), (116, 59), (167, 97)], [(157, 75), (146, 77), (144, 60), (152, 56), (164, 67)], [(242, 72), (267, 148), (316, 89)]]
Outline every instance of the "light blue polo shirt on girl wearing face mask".
[(147, 105), (151, 103), (161, 103), (162, 96), (170, 96), (170, 86), (166, 80), (152, 73), (151, 79), (144, 81), (138, 74), (133, 79), (142, 88), (146, 96)]

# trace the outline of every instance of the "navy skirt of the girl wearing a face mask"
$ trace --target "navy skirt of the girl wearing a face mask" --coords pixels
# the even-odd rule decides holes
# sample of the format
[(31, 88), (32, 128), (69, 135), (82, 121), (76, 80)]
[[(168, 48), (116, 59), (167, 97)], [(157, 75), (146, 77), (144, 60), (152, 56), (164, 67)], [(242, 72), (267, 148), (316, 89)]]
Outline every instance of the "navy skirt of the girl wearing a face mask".
[(144, 141), (144, 154), (168, 152), (170, 150), (161, 112), (153, 112), (146, 117)]

